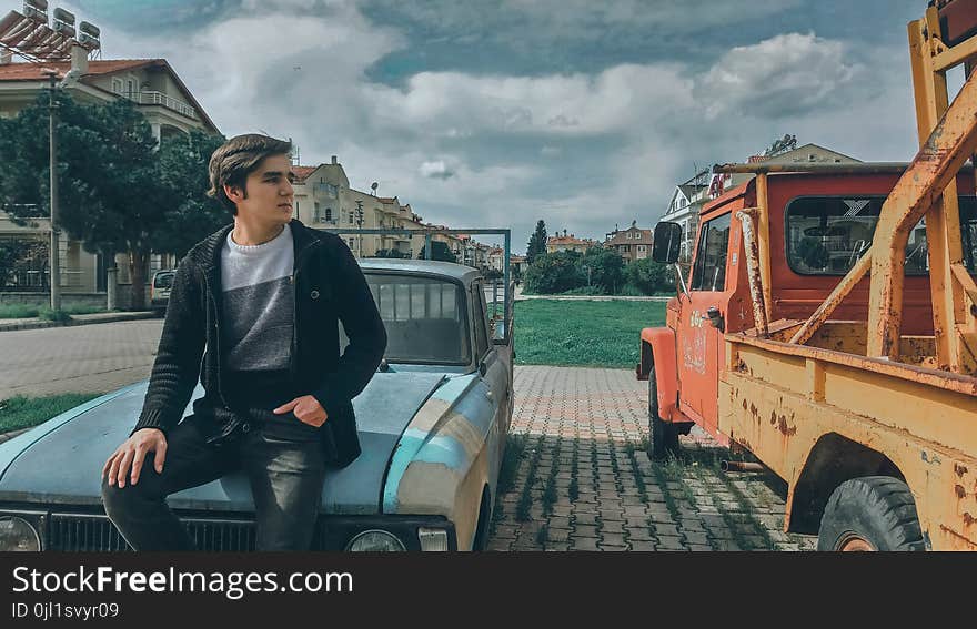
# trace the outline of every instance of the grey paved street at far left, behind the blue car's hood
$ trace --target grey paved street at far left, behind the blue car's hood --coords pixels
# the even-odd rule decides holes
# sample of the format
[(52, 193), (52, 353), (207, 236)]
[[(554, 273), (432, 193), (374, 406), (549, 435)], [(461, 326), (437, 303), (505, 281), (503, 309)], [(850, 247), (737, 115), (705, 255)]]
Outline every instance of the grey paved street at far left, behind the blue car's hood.
[(0, 399), (17, 394), (104, 393), (145, 379), (162, 319), (0, 334)]

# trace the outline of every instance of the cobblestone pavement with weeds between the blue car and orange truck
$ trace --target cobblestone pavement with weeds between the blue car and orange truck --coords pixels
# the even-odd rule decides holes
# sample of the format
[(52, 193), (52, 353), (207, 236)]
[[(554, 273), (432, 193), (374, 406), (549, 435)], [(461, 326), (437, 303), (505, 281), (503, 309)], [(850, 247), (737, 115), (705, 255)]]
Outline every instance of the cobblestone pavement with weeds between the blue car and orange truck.
[(496, 501), (488, 548), (816, 547), (813, 537), (783, 532), (779, 480), (719, 471), (728, 450), (697, 428), (682, 437), (688, 460), (652, 464), (646, 396), (629, 371), (517, 367), (506, 461), (514, 481)]

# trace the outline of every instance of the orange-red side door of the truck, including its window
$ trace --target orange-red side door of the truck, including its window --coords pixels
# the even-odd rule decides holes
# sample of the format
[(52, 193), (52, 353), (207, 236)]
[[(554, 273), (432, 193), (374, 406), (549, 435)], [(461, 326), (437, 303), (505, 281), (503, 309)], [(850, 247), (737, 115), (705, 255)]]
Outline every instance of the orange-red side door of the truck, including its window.
[(706, 313), (718, 307), (725, 316), (726, 264), (731, 214), (703, 224), (689, 282), (689, 302), (682, 304), (678, 326), (678, 399), (683, 413), (711, 433), (717, 429), (717, 396), (722, 332)]

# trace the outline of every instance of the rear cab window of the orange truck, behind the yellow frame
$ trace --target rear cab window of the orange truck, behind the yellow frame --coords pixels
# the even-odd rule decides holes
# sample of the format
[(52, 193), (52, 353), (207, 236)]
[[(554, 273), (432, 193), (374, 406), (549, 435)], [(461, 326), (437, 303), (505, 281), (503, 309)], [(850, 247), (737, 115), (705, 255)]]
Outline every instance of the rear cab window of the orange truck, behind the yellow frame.
[[(844, 275), (872, 246), (885, 196), (804, 196), (787, 204), (787, 263), (800, 275)], [(964, 263), (977, 260), (977, 199), (960, 196)], [(907, 275), (929, 273), (926, 220), (909, 235)]]

